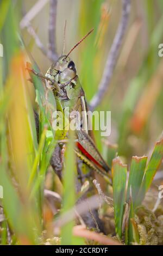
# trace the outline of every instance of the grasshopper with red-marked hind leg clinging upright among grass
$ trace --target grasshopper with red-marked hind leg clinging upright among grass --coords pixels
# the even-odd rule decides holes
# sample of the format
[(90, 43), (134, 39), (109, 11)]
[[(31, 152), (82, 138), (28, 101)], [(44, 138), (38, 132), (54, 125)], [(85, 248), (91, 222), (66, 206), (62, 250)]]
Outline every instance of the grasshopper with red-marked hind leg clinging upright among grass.
[[(77, 75), (76, 65), (69, 57), (70, 53), (76, 48), (91, 32), (87, 33), (82, 40), (80, 40), (67, 55), (62, 55), (57, 62), (53, 63), (45, 76), (38, 74), (35, 70), (32, 71), (35, 75), (40, 76), (50, 82), (55, 100), (57, 102), (57, 110), (64, 112), (66, 107), (69, 107), (70, 113), (78, 111), (81, 114), (82, 120), (78, 124), (77, 142), (75, 152), (79, 159), (81, 159), (87, 166), (101, 174), (107, 181), (110, 181), (109, 166), (104, 161), (99, 153), (96, 145), (91, 138), (88, 131), (87, 119), (87, 104), (85, 100), (84, 90)], [(59, 144), (65, 143), (67, 138), (67, 131), (63, 131), (59, 136)]]

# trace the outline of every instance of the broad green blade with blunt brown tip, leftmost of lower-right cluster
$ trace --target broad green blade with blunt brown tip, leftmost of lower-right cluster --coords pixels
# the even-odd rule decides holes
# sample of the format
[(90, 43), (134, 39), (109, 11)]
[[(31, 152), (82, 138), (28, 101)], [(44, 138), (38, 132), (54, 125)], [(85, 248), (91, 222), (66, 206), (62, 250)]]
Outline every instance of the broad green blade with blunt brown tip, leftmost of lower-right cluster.
[(126, 198), (127, 165), (123, 164), (119, 157), (116, 157), (116, 159), (112, 161), (111, 172), (116, 234), (121, 238), (123, 208)]

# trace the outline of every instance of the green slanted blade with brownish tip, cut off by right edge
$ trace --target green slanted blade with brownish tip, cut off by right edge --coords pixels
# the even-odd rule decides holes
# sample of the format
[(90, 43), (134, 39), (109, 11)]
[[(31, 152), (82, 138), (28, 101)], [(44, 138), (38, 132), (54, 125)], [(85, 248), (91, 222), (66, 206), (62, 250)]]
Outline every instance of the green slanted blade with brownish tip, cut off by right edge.
[(152, 180), (156, 171), (158, 170), (163, 158), (163, 138), (156, 142), (151, 159), (149, 160), (148, 166), (145, 171), (145, 176), (142, 180), (139, 194), (137, 196), (138, 204), (141, 204), (148, 188), (151, 186)]

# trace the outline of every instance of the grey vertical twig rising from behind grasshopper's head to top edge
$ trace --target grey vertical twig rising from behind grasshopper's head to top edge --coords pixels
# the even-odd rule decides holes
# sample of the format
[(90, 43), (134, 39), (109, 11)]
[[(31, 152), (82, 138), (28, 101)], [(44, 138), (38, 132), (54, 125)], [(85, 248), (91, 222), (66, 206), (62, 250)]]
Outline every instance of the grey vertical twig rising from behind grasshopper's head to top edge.
[(56, 32), (56, 17), (57, 17), (57, 0), (50, 0), (49, 7), (49, 57), (51, 56), (55, 62), (58, 58), (55, 46), (55, 32)]

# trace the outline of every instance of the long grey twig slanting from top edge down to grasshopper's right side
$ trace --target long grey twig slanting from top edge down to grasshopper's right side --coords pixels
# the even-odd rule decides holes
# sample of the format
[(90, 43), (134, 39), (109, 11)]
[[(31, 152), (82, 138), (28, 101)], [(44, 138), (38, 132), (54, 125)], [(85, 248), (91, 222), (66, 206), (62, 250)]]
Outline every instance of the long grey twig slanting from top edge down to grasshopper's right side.
[(114, 41), (112, 43), (108, 58), (106, 60), (103, 76), (101, 83), (99, 84), (98, 92), (93, 96), (90, 102), (91, 110), (95, 109), (102, 101), (106, 90), (108, 89), (112, 73), (114, 71), (120, 47), (122, 44), (124, 33), (128, 25), (128, 17), (130, 13), (130, 2), (131, 0), (122, 0), (122, 17), (118, 26)]

